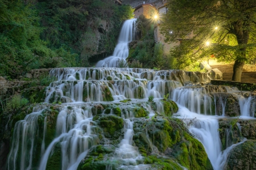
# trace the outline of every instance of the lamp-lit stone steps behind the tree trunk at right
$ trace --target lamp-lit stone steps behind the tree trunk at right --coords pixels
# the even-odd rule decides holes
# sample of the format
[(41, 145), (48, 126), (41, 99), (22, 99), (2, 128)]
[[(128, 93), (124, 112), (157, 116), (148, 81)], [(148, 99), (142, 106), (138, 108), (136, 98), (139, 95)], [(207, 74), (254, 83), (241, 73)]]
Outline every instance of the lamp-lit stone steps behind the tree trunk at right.
[[(218, 69), (222, 72), (223, 80), (232, 80), (233, 64), (226, 65), (210, 65), (212, 69)], [(246, 71), (243, 69), (241, 82), (256, 83), (256, 72)]]

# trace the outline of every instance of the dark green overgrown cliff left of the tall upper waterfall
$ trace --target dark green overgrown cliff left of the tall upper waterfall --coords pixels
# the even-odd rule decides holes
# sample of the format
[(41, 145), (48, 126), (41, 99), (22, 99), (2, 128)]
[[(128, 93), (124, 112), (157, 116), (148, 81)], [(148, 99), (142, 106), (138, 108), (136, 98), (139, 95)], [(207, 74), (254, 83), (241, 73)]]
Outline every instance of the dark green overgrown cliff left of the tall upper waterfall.
[(112, 53), (130, 6), (114, 1), (0, 1), (0, 76), (17, 79), (28, 70), (90, 66)]

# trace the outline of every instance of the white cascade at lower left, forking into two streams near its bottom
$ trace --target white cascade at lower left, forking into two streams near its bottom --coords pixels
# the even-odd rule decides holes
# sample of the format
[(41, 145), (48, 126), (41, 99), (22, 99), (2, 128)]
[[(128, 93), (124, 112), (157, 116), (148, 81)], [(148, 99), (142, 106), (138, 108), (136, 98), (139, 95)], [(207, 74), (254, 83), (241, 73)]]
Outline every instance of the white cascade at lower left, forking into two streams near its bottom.
[(76, 169), (93, 145), (97, 145), (98, 135), (93, 130), (91, 108), (64, 107), (57, 116), (57, 137), (49, 144), (42, 156), (39, 169), (46, 169), (51, 152), (60, 145), (63, 169)]

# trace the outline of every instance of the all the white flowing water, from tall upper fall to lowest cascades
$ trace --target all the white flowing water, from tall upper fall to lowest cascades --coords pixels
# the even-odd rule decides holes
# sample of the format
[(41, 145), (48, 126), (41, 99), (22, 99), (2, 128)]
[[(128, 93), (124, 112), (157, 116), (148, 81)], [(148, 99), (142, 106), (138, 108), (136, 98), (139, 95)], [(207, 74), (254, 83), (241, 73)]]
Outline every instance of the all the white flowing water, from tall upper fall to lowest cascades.
[[(175, 116), (183, 119), (189, 125), (189, 131), (203, 143), (214, 170), (224, 168), (229, 151), (241, 143), (221, 150), (218, 119), (226, 117), (225, 104), (228, 98), (225, 95), (237, 97), (241, 116), (249, 119), (254, 117), (255, 107), (251, 107), (254, 105), (253, 97), (243, 97), (237, 88), (200, 84), (210, 81), (207, 73), (117, 68), (121, 59), (129, 54), (127, 43), (133, 40), (135, 21), (131, 19), (123, 24), (113, 56), (98, 62), (98, 68), (59, 68), (50, 71), (49, 75), (55, 76), (57, 80), (46, 88), (44, 104), (36, 106), (33, 113), (14, 126), (13, 143), (7, 158), (8, 169), (47, 169), (56, 150), (61, 155), (61, 169), (76, 169), (90, 149), (99, 145), (100, 134), (105, 139), (93, 121), (94, 112), (102, 113), (103, 109), (99, 106), (102, 103), (118, 103), (125, 122), (121, 142), (114, 151), (113, 162), (118, 159), (120, 169), (146, 169), (150, 165), (143, 164), (143, 156), (133, 145), (135, 115), (131, 108), (136, 106), (130, 108), (128, 104), (120, 103), (120, 100), (131, 99), (140, 103), (149, 116), (153, 117), (155, 112), (163, 112), (163, 105), (159, 100), (167, 94), (170, 94), (169, 99), (179, 105)], [(221, 94), (224, 94), (223, 98)], [(156, 103), (154, 109), (147, 104), (150, 96), (154, 97)], [(52, 112), (51, 103), (56, 101), (59, 102), (56, 108), (59, 114), (56, 117), (56, 127), (51, 127), (55, 128), (56, 134), (49, 141), (46, 138), (46, 114)], [(38, 131), (38, 120), (43, 125), (42, 134)], [(39, 136), (42, 137), (40, 146), (35, 145)], [(105, 145), (108, 145), (107, 139)], [(158, 153), (156, 147), (152, 143), (151, 145), (152, 152)], [(33, 156), (39, 158), (39, 167), (35, 167), (36, 163), (32, 162)], [(107, 169), (112, 169), (112, 165)]]

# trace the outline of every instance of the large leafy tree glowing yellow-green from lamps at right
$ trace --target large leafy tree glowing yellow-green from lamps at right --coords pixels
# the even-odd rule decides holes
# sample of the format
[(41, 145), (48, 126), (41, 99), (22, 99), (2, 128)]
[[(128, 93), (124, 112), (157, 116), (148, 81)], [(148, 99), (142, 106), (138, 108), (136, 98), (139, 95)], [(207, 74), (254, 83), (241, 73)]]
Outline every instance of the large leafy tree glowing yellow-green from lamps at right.
[(171, 49), (177, 61), (214, 54), (218, 61), (234, 61), (232, 80), (241, 81), (243, 65), (256, 46), (256, 1), (168, 0), (167, 7), (162, 33), (166, 41), (182, 40)]

